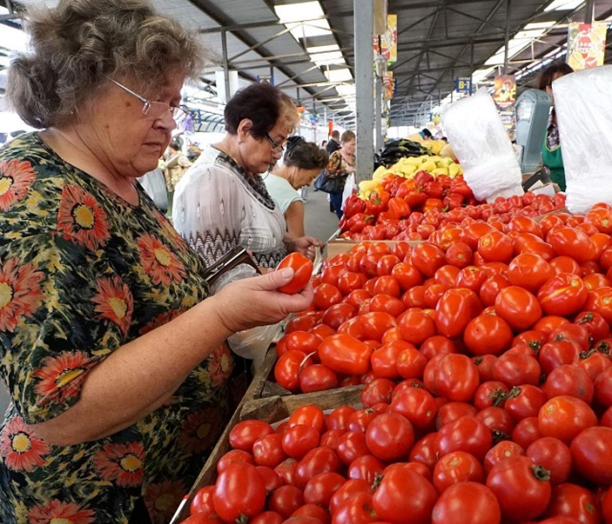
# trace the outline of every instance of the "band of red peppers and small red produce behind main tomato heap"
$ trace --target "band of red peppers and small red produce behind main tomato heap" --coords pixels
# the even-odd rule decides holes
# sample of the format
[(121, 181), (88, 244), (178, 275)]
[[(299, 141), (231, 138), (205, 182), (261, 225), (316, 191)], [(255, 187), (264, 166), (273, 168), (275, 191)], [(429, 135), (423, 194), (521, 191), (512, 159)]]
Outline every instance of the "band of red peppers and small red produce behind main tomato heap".
[[(425, 173), (428, 174), (428, 173)], [(445, 180), (447, 179), (447, 180)], [(350, 240), (427, 240), (441, 226), (464, 223), (466, 220), (485, 220), (508, 223), (515, 215), (537, 217), (565, 206), (565, 195), (554, 197), (527, 192), (521, 196), (499, 196), (492, 204), (478, 204), (463, 179), (439, 176), (426, 182), (425, 189), (416, 178), (406, 181), (401, 177), (386, 181), (387, 189), (373, 192), (368, 200), (351, 196), (345, 204), (340, 220), (341, 238)], [(427, 198), (428, 184), (455, 187), (443, 200)], [(411, 188), (408, 190), (407, 188)], [(459, 193), (461, 191), (461, 193)], [(457, 196), (453, 196), (457, 195)]]

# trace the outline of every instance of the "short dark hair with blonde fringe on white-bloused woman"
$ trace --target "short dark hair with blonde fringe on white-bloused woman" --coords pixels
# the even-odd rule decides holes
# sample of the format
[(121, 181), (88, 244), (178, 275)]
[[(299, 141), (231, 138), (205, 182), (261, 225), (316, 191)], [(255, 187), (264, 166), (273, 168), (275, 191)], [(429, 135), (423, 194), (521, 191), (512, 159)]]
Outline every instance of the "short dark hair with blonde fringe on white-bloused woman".
[(240, 122), (249, 119), (253, 122), (251, 134), (263, 138), (276, 125), (278, 120), (286, 121), (290, 129), (297, 124), (297, 111), (291, 99), (268, 83), (253, 82), (238, 91), (225, 106), (225, 129), (236, 135)]

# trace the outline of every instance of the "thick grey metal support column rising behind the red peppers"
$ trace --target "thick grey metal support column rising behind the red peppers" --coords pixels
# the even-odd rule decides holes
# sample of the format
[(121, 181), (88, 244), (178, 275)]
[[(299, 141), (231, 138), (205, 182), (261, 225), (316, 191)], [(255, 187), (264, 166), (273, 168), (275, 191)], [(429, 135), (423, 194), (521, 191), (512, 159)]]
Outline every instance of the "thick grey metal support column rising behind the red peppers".
[(356, 179), (367, 180), (374, 167), (373, 24), (372, 0), (353, 0), (356, 87)]

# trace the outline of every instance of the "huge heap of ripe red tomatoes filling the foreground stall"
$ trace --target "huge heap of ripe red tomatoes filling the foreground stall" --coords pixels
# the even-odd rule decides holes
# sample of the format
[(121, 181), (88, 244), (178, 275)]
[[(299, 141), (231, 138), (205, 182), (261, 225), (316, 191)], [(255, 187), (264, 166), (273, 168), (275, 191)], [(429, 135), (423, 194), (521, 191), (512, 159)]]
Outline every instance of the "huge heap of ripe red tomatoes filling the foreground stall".
[(362, 405), (239, 422), (184, 522), (612, 524), (612, 208), (525, 198), (327, 261), (274, 375)]

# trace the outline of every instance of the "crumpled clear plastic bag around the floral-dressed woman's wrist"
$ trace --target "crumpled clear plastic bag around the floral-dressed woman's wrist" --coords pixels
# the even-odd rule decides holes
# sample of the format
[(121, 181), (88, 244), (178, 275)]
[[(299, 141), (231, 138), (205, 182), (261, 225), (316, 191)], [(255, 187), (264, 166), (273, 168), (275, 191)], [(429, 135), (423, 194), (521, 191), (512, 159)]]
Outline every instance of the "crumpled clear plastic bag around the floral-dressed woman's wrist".
[[(255, 277), (257, 272), (248, 264), (240, 264), (236, 268), (223, 273), (211, 286), (211, 293), (215, 294), (222, 290), (226, 285), (236, 282), (236, 280)], [(273, 340), (278, 337), (281, 331), (281, 323), (272, 326), (259, 326), (239, 331), (231, 335), (228, 345), (237, 355), (259, 361), (266, 356), (266, 350)]]

